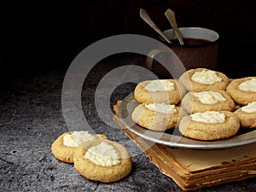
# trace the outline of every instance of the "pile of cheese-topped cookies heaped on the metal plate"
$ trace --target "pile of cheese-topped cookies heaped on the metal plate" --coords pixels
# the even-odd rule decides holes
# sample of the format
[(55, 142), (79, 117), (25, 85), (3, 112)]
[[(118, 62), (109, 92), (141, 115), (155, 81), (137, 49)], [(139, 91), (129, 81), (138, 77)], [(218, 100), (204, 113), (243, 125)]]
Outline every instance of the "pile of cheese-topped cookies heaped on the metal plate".
[(196, 68), (178, 79), (143, 81), (134, 97), (139, 105), (131, 119), (153, 131), (178, 128), (184, 137), (213, 141), (256, 128), (256, 77), (230, 80)]

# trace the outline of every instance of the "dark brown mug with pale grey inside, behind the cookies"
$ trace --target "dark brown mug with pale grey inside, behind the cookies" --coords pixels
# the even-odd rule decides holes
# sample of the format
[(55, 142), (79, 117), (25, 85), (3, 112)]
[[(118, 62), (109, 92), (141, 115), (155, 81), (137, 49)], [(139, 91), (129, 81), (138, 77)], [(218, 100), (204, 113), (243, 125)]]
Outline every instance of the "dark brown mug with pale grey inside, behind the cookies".
[[(184, 45), (178, 44), (177, 36), (172, 29), (166, 30), (164, 34), (171, 39), (172, 44), (167, 44), (170, 49), (182, 61), (183, 67), (186, 70), (206, 67), (215, 69), (218, 63), (218, 32), (201, 27), (181, 27), (179, 28), (184, 40)], [(160, 60), (168, 60), (167, 51), (164, 49), (153, 49), (147, 57), (146, 65), (149, 70), (160, 74), (164, 77), (169, 77), (170, 73), (166, 68), (155, 61), (156, 57)]]

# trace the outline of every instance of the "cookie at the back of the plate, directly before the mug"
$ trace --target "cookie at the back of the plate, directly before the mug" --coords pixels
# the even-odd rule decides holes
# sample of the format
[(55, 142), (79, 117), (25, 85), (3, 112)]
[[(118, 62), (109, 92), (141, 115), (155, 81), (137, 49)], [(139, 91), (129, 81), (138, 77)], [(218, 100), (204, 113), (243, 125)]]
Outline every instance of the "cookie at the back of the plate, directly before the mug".
[(230, 82), (224, 73), (207, 68), (190, 69), (178, 81), (189, 91), (226, 90)]

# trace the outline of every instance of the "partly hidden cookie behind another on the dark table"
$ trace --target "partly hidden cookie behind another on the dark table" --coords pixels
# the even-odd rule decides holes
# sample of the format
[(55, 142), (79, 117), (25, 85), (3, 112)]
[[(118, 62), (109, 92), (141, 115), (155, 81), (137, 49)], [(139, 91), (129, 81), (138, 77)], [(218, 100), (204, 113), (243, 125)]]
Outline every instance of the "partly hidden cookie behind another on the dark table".
[(52, 143), (51, 151), (57, 160), (73, 163), (73, 154), (79, 144), (102, 139), (108, 138), (104, 135), (90, 134), (88, 131), (65, 132)]

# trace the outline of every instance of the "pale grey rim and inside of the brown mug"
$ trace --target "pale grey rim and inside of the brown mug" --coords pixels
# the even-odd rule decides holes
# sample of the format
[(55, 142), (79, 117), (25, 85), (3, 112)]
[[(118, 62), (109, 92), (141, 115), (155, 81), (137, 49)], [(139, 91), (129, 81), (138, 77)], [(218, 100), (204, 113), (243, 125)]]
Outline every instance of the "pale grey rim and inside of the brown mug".
[[(210, 43), (207, 44), (200, 44), (200, 45), (180, 45), (180, 44), (171, 44), (171, 46), (173, 47), (204, 47), (204, 46), (209, 46), (210, 44), (215, 44), (216, 42), (218, 42), (219, 39), (219, 34), (218, 32), (212, 30), (212, 29), (208, 29), (208, 28), (203, 28), (203, 27), (178, 27), (178, 29), (180, 30), (182, 36), (184, 38), (199, 38), (199, 39), (206, 39), (211, 41)], [(199, 32), (199, 33), (194, 33), (193, 36), (189, 35), (191, 33), (191, 31), (195, 31), (195, 32)], [(170, 34), (170, 32), (172, 32)], [(174, 39), (173, 37), (175, 36), (175, 38), (177, 38), (175, 32), (173, 31), (173, 29), (167, 29), (163, 32), (167, 38), (169, 38), (170, 40)], [(207, 36), (207, 38), (201, 38), (201, 34), (204, 34)], [(211, 37), (209, 37), (211, 35)], [(170, 44), (169, 44), (170, 46)]]

